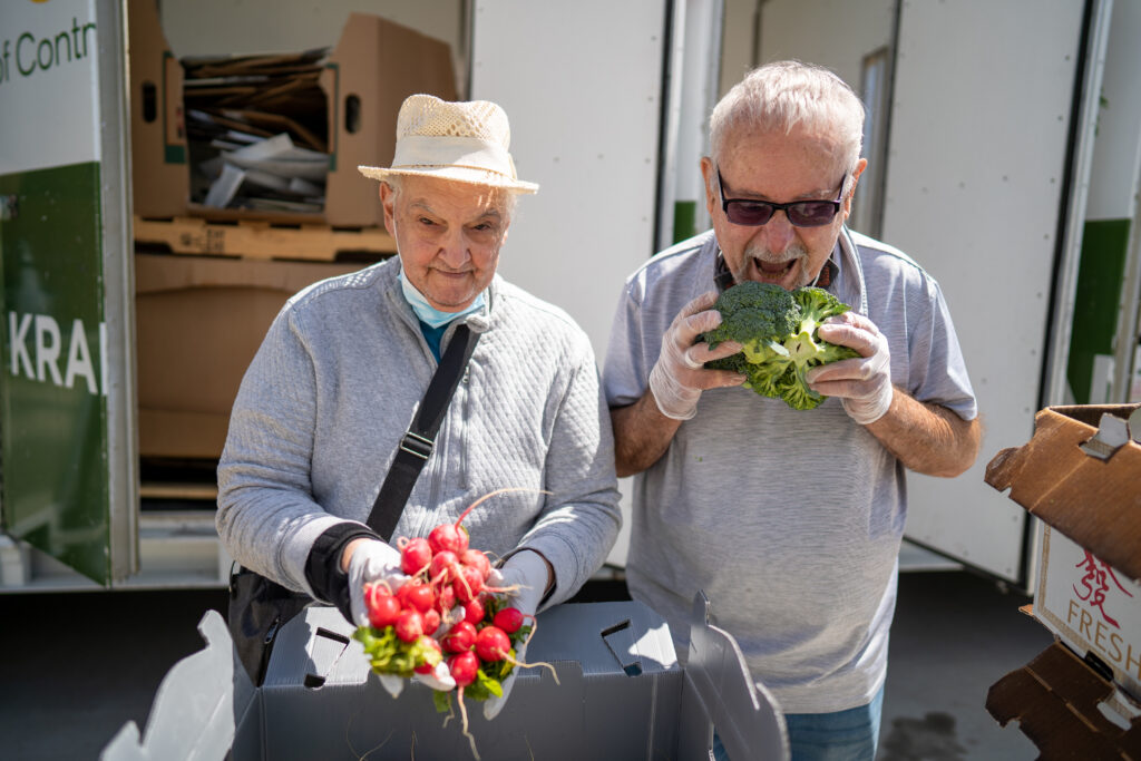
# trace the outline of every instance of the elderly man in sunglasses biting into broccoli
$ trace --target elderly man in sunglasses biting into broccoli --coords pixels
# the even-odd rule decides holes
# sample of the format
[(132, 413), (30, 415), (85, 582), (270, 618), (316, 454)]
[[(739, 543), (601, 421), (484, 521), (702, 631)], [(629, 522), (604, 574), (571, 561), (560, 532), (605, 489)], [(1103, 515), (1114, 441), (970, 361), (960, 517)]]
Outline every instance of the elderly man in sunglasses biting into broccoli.
[[(873, 759), (906, 511), (905, 470), (974, 461), (974, 395), (938, 283), (844, 227), (867, 164), (864, 108), (817, 66), (752, 72), (714, 108), (702, 160), (713, 229), (628, 281), (604, 386), (620, 476), (636, 475), (632, 596), (687, 647), (704, 590), (786, 714), (793, 758)], [(827, 289), (819, 335), (859, 357), (812, 370), (811, 411), (707, 370), (719, 290)], [(725, 752), (722, 747), (717, 748)]]

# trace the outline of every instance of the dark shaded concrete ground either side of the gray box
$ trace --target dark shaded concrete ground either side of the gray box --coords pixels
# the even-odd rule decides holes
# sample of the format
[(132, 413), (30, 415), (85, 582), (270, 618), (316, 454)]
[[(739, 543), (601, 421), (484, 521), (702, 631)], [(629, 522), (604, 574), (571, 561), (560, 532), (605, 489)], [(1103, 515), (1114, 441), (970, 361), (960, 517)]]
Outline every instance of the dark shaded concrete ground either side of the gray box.
[[(877, 761), (1037, 756), (984, 707), (1052, 641), (1019, 613), (1027, 601), (962, 570), (901, 575)], [(163, 675), (201, 649), (208, 608), (225, 612), (225, 592), (0, 596), (0, 758), (96, 759), (127, 721), (143, 728)]]

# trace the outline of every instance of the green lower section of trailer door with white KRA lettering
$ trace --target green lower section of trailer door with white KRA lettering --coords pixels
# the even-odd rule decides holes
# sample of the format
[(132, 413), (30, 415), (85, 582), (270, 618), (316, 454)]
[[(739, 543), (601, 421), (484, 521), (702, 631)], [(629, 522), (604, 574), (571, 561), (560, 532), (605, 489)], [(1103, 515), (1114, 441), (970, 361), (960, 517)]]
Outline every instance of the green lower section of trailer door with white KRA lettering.
[(0, 176), (5, 531), (111, 580), (99, 164)]

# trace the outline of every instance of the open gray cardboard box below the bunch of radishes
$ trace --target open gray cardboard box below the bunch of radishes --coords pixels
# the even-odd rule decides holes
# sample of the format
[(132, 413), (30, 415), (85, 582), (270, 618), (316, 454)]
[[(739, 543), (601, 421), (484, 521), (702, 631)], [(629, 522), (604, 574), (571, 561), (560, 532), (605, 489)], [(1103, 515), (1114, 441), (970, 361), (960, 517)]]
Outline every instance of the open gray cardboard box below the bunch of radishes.
[[(666, 623), (641, 604), (543, 613), (526, 659), (551, 663), (558, 683), (547, 669), (520, 671), (493, 721), (468, 701), (479, 756), (707, 759), (715, 724), (735, 760), (786, 759), (783, 714), (706, 608), (698, 594), (685, 667)], [(103, 759), (475, 758), (459, 714), (445, 722), (427, 687), (385, 691), (332, 608), (308, 608), (282, 630), (260, 688), (237, 664), (221, 616), (209, 612), (199, 629), (207, 648), (168, 673), (143, 738), (128, 723)]]

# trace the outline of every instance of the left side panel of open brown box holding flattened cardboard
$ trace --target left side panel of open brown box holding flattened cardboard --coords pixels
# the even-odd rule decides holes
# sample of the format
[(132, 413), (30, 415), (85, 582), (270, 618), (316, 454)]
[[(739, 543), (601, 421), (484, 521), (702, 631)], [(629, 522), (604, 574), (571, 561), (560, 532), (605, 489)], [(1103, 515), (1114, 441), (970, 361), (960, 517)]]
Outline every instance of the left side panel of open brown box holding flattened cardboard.
[(131, 187), (140, 217), (185, 213), (189, 194), (183, 67), (162, 34), (155, 0), (130, 0)]

